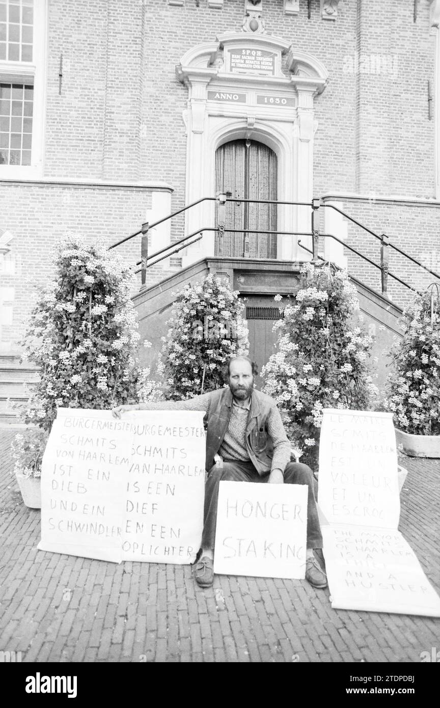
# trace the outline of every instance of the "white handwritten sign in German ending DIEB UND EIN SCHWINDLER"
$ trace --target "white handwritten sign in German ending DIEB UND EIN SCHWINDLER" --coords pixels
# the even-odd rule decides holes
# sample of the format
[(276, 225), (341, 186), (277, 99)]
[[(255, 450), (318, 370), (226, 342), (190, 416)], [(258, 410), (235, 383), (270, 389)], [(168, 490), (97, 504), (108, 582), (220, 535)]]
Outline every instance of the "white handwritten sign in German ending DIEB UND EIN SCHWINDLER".
[(122, 560), (126, 428), (108, 411), (59, 409), (42, 459), (40, 550)]

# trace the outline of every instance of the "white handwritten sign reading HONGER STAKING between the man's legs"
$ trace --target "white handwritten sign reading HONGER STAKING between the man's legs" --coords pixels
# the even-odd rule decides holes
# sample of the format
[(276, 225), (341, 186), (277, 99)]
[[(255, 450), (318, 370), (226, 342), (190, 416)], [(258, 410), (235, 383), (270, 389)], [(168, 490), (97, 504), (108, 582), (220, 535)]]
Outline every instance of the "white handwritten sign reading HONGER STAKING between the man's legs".
[(304, 578), (307, 486), (221, 481), (214, 572)]

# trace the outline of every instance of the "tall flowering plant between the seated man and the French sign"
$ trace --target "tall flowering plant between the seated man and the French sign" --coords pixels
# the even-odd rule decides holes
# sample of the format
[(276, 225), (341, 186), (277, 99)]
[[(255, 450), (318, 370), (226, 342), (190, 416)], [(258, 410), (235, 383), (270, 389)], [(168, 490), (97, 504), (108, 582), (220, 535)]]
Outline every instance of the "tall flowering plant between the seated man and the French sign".
[(274, 324), (277, 351), (262, 369), (262, 390), (277, 401), (292, 444), (315, 466), (323, 408), (367, 406), (372, 338), (352, 326), (359, 302), (344, 270), (308, 263), (301, 276), (296, 302)]

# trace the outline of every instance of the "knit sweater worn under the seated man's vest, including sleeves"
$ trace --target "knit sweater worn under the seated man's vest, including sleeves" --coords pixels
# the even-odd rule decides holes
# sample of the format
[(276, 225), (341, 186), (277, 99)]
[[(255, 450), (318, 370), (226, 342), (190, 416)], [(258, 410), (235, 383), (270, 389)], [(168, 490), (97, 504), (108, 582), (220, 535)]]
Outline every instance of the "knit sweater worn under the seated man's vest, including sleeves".
[[(204, 411), (209, 409), (211, 393), (194, 396), (186, 401), (158, 401), (141, 404), (144, 410), (149, 411)], [(224, 459), (249, 459), (245, 442), (245, 430), (248, 424), (248, 409), (233, 405), (228, 430), (224, 436), (219, 453)], [(273, 444), (273, 457), (271, 469), (281, 469), (284, 472), (290, 462), (290, 443), (284, 430), (279, 410), (274, 407), (267, 418), (267, 433)]]

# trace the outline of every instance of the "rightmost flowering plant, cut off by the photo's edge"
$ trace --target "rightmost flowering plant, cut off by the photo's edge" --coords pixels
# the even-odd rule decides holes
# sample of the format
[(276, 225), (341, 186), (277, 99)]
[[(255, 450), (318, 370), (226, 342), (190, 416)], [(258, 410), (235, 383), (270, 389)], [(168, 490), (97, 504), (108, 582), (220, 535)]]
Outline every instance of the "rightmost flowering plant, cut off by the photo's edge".
[(416, 295), (401, 319), (403, 337), (391, 350), (385, 406), (396, 427), (413, 435), (440, 435), (440, 304)]

